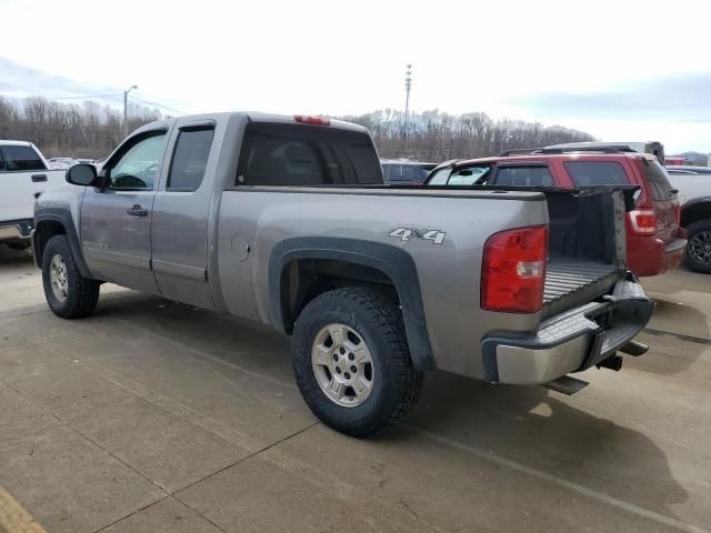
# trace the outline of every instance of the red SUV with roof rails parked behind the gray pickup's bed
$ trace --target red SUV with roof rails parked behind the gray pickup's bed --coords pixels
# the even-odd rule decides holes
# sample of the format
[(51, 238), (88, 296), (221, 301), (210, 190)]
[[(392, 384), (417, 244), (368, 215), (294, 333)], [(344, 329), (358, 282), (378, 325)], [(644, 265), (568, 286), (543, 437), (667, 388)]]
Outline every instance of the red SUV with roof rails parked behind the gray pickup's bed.
[[(518, 152), (518, 151), (513, 151)], [(657, 275), (681, 263), (687, 232), (679, 227), (677, 191), (654, 155), (534, 149), (525, 154), (449, 161), (437, 167), (425, 185), (561, 187), (639, 185), (627, 219), (627, 262), (637, 275)]]

